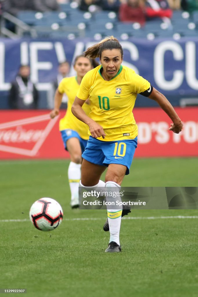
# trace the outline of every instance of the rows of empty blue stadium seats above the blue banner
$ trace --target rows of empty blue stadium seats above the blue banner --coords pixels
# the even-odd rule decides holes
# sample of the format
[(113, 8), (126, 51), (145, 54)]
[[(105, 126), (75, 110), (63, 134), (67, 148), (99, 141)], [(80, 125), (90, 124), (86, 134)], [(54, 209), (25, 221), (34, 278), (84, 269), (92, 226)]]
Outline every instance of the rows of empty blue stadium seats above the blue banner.
[[(33, 12), (23, 11), (18, 18), (33, 26), (38, 36), (42, 37), (96, 37), (115, 35), (121, 39), (130, 36), (134, 38), (172, 38), (174, 34), (180, 37), (198, 35), (198, 12), (189, 15), (188, 12), (176, 10), (172, 20), (164, 23), (161, 19), (147, 21), (144, 27), (138, 23), (122, 23), (115, 12), (82, 12), (71, 4), (61, 4), (61, 11)], [(73, 35), (72, 35), (73, 34)], [(179, 35), (177, 35), (179, 37)]]

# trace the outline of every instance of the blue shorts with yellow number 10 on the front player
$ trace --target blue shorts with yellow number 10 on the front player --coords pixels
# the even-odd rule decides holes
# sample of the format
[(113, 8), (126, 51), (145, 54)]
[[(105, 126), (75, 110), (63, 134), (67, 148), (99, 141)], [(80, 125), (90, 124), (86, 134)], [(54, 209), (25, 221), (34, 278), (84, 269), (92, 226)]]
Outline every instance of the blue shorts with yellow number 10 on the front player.
[(127, 140), (102, 141), (90, 136), (82, 157), (97, 165), (124, 165), (127, 168), (127, 175), (129, 174), (129, 168), (136, 148), (137, 137)]

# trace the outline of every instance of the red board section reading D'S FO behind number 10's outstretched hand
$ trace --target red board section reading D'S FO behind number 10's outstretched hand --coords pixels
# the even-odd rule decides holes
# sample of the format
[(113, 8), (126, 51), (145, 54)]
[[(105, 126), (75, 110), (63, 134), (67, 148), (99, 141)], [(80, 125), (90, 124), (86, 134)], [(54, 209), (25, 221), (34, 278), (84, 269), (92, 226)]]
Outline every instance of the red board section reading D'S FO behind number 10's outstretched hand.
[(169, 131), (171, 119), (161, 108), (135, 108), (138, 125), (136, 157), (198, 156), (198, 108), (175, 108), (183, 122), (179, 134)]

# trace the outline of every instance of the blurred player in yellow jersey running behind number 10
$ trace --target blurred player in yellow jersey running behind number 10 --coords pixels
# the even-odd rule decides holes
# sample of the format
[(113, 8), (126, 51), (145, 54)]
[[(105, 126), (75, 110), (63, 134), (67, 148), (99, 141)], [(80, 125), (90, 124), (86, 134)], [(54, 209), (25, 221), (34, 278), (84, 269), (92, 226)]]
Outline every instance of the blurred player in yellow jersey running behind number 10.
[[(78, 186), (82, 163), (81, 155), (87, 145), (89, 135), (87, 124), (78, 120), (72, 114), (71, 107), (77, 91), (80, 88), (83, 76), (96, 65), (98, 65), (96, 61), (91, 60), (84, 55), (80, 55), (75, 58), (74, 69), (77, 72), (77, 76), (63, 78), (61, 80), (55, 93), (54, 109), (50, 113), (50, 117), (52, 119), (59, 114), (62, 97), (65, 93), (68, 97), (68, 105), (66, 115), (59, 122), (59, 130), (64, 142), (64, 147), (67, 151), (69, 151), (71, 158), (68, 168), (68, 179), (71, 190), (70, 205), (72, 208), (78, 207)], [(83, 111), (87, 115), (90, 113), (91, 109), (88, 102), (85, 102), (83, 105)]]

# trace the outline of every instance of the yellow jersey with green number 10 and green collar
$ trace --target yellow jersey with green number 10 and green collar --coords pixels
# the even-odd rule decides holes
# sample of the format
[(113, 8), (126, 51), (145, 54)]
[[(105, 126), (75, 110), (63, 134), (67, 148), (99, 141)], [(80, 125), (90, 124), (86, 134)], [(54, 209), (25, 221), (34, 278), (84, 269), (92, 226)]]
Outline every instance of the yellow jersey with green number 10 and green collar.
[[(82, 100), (89, 97), (89, 117), (100, 124), (106, 134), (104, 139), (97, 139), (134, 139), (138, 132), (132, 113), (135, 99), (137, 94), (149, 89), (150, 83), (122, 65), (117, 75), (107, 81), (101, 75), (101, 68), (100, 65), (85, 74), (77, 97)], [(91, 135), (90, 131), (88, 133)]]

